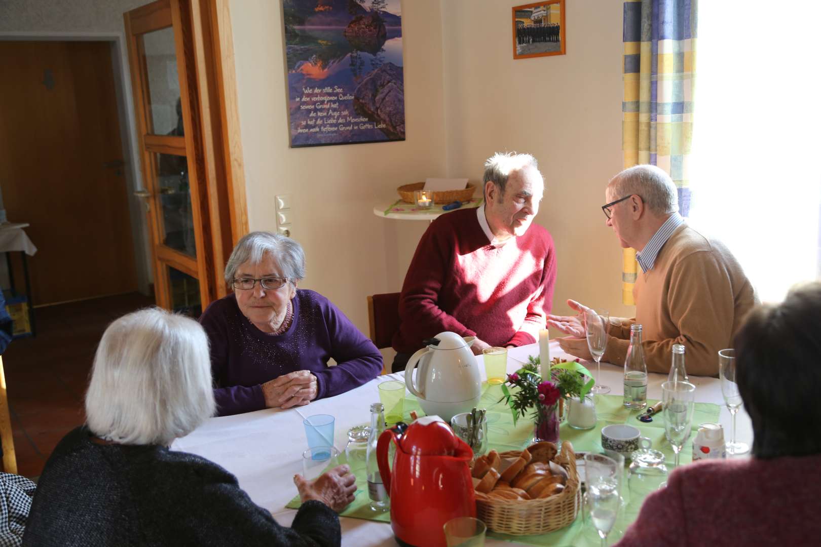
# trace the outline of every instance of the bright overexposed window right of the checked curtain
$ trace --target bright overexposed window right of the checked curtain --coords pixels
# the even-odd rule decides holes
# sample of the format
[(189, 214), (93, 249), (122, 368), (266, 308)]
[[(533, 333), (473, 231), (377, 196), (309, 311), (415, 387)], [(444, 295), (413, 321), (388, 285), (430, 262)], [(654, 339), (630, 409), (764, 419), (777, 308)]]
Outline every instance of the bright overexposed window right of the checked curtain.
[(690, 224), (762, 301), (821, 277), (821, 2), (699, 2)]

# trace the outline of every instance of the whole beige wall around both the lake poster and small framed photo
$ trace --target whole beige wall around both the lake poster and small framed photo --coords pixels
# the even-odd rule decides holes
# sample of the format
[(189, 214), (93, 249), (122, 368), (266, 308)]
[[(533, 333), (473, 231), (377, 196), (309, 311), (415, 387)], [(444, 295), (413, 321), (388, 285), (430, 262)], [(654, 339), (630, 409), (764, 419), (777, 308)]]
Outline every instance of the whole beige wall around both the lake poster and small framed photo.
[(426, 176), (480, 180), (484, 159), (509, 149), (533, 153), (547, 180), (537, 222), (556, 239), (557, 311), (573, 297), (630, 312), (620, 249), (599, 208), (621, 169), (621, 2), (567, 2), (567, 54), (514, 61), (507, 2), (406, 0), (407, 140), (294, 149), (281, 2), (231, 8), (250, 227), (276, 230), (274, 196), (293, 195), (303, 286), (366, 331), (365, 296), (400, 289), (425, 228), (375, 217), (374, 203)]

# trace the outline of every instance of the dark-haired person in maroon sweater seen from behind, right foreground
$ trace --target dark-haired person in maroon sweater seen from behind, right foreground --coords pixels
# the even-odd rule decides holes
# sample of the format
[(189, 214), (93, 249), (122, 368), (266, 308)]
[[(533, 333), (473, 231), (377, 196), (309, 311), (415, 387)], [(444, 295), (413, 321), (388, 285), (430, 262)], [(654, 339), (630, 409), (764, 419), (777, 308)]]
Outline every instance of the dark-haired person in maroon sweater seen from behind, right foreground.
[(672, 472), (617, 545), (818, 545), (821, 283), (754, 309), (734, 344), (753, 457)]

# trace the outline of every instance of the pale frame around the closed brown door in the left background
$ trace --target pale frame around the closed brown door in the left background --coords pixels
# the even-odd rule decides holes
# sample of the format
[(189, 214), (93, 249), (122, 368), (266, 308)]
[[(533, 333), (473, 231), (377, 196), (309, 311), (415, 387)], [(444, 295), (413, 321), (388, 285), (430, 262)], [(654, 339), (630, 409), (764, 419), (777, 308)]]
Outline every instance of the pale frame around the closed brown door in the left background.
[(20, 42), (109, 42), (112, 43), (114, 54), (114, 84), (117, 88), (117, 115), (120, 116), (122, 127), (123, 148), (130, 172), (130, 179), (126, 180), (128, 191), (128, 210), (131, 216), (131, 238), (135, 249), (135, 267), (137, 268), (137, 285), (140, 293), (149, 294), (150, 271), (150, 244), (148, 226), (145, 221), (143, 204), (134, 197), (134, 191), (142, 185), (142, 169), (140, 155), (137, 148), (137, 128), (134, 115), (133, 94), (131, 93), (131, 73), (128, 69), (128, 48), (125, 32), (10, 32), (0, 31), (0, 40)]

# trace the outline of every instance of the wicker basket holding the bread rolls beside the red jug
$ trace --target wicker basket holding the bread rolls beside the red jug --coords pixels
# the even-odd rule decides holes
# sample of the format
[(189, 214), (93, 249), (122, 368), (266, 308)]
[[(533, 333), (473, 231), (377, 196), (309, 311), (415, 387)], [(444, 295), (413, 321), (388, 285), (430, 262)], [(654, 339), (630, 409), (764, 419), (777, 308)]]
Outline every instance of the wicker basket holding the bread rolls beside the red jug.
[[(520, 454), (513, 450), (499, 455)], [(581, 507), (576, 454), (570, 442), (562, 442), (562, 452), (553, 461), (564, 467), (569, 475), (561, 493), (543, 499), (477, 499), (476, 517), (488, 526), (488, 530), (514, 536), (546, 534), (570, 526)]]

